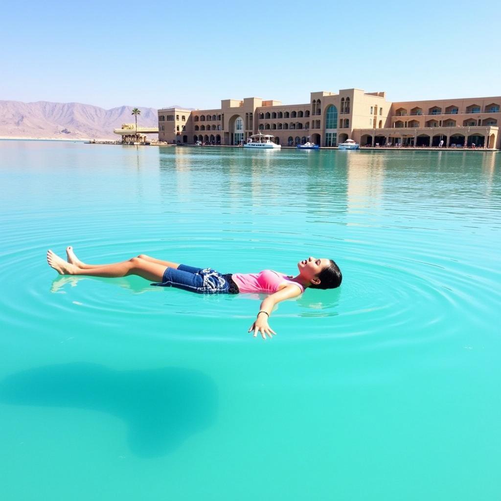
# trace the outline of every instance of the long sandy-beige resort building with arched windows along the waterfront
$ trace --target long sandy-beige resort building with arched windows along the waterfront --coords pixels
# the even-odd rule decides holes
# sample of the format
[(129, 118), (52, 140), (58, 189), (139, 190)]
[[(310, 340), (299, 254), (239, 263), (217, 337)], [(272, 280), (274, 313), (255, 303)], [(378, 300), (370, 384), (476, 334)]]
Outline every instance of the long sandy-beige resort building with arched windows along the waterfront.
[(346, 139), (361, 146), (501, 148), (501, 97), (393, 103), (384, 92), (344, 89), (312, 92), (310, 101), (283, 105), (251, 97), (225, 99), (212, 110), (158, 110), (158, 139), (174, 144), (238, 145), (271, 134), (294, 146), (333, 147)]

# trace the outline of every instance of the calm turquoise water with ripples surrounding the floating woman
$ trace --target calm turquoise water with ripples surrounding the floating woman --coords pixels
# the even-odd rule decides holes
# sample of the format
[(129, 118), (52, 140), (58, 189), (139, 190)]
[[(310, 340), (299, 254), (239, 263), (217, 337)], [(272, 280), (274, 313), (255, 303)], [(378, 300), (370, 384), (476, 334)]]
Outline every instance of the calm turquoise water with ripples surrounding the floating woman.
[[(0, 141), (0, 498), (501, 498), (501, 156)], [(143, 253), (344, 280), (279, 305)]]

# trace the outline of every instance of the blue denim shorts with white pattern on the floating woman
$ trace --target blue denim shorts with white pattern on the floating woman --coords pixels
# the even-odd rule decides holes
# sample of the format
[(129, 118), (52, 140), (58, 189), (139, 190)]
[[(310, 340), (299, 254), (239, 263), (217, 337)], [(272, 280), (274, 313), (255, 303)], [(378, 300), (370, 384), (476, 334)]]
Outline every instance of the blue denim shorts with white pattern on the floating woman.
[(222, 275), (211, 268), (194, 268), (179, 265), (163, 272), (162, 282), (151, 284), (160, 287), (176, 287), (199, 294), (238, 294), (238, 287), (231, 280), (231, 274)]

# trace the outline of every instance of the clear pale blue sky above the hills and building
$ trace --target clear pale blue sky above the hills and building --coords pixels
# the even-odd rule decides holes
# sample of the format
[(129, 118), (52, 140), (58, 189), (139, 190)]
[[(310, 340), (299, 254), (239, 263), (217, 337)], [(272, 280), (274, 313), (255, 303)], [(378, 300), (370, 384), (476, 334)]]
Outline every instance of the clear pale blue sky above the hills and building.
[(0, 99), (215, 108), (351, 87), (390, 101), (501, 95), (491, 0), (141, 5), (5, 4)]

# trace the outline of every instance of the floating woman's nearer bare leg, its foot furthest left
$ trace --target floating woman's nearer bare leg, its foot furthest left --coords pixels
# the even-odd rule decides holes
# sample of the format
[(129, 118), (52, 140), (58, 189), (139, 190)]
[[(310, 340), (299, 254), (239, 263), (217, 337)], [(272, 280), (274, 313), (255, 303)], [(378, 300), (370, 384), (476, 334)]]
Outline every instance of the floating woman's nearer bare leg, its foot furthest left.
[(88, 277), (126, 277), (128, 275), (137, 275), (150, 282), (161, 282), (165, 266), (157, 263), (149, 263), (140, 258), (132, 258), (123, 263), (113, 265), (104, 265), (99, 268), (81, 269), (71, 263), (67, 263), (52, 250), (47, 252), (47, 262), (60, 275), (86, 275)]

